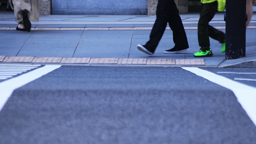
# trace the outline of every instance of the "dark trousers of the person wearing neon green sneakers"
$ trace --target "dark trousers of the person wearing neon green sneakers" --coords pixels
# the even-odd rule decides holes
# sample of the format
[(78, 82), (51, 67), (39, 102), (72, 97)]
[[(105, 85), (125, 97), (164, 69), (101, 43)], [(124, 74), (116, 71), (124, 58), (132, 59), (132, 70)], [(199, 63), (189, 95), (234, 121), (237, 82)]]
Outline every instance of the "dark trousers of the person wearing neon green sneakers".
[(200, 11), (200, 18), (198, 21), (198, 44), (201, 47), (200, 50), (210, 50), (210, 39), (218, 40), (220, 43), (225, 42), (224, 32), (217, 30), (209, 25), (214, 15), (217, 12), (218, 2), (211, 2), (208, 4), (202, 4)]

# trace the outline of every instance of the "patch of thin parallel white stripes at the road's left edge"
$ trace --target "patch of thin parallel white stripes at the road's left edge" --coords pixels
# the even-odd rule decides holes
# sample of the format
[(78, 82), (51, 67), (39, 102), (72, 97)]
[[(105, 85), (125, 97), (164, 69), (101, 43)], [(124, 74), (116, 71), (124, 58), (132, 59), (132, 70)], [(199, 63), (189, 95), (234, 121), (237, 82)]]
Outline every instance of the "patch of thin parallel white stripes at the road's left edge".
[(0, 82), (26, 73), (41, 65), (0, 64)]

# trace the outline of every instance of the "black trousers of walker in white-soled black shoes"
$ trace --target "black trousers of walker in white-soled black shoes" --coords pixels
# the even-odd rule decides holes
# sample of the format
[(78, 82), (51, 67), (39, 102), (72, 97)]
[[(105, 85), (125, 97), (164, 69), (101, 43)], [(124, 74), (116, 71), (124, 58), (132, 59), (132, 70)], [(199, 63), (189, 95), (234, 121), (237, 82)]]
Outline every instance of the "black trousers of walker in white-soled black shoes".
[(173, 32), (175, 47), (188, 48), (186, 32), (174, 0), (158, 0), (156, 21), (150, 33), (150, 40), (145, 45), (150, 51), (154, 52), (156, 50), (166, 29), (167, 22)]

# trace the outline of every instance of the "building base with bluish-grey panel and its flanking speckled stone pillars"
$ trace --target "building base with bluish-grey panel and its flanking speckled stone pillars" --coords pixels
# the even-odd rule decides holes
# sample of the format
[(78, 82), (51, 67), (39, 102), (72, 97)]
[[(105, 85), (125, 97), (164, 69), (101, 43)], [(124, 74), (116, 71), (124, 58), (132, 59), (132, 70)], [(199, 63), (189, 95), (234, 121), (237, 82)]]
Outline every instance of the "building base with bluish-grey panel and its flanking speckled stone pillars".
[[(158, 0), (40, 0), (41, 15), (155, 15)], [(175, 0), (180, 14), (188, 0)]]

